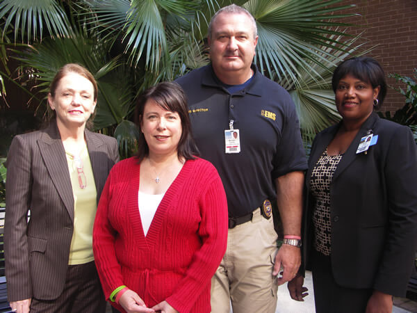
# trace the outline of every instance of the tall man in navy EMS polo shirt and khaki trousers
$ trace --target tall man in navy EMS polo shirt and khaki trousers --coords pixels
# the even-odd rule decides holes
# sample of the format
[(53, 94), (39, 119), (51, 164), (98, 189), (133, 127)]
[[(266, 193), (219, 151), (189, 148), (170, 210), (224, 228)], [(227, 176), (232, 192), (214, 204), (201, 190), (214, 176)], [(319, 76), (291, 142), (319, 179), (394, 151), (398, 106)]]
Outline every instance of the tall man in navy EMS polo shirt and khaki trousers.
[[(177, 79), (197, 146), (227, 193), (227, 252), (211, 287), (216, 313), (229, 313), (230, 301), (234, 313), (275, 312), (278, 285), (294, 278), (301, 262), (307, 164), (300, 125), (290, 95), (252, 65), (256, 32), (247, 10), (220, 9), (208, 27), (211, 64)], [(278, 251), (275, 198), (286, 235)]]

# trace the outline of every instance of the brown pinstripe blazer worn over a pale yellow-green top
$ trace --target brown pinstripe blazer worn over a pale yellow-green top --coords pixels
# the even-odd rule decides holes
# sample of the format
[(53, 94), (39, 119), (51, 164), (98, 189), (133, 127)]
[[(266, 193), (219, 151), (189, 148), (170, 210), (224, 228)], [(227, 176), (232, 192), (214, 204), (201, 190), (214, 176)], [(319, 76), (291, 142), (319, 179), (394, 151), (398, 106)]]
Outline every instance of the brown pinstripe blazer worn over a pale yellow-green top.
[[(119, 160), (115, 138), (85, 130), (97, 188)], [(13, 138), (7, 158), (4, 252), (8, 300), (62, 293), (74, 230), (74, 198), (56, 122)], [(28, 209), (31, 218), (28, 223)]]

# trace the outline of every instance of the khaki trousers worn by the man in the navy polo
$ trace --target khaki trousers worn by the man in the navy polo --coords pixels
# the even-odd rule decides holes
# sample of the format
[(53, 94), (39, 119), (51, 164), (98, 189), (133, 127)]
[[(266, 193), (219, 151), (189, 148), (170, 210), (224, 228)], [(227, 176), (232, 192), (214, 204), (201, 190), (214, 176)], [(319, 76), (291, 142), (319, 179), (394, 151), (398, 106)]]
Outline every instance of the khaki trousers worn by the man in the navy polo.
[(254, 211), (252, 221), (229, 230), (227, 251), (211, 280), (211, 312), (275, 312), (277, 280), (272, 267), (277, 233), (272, 218)]

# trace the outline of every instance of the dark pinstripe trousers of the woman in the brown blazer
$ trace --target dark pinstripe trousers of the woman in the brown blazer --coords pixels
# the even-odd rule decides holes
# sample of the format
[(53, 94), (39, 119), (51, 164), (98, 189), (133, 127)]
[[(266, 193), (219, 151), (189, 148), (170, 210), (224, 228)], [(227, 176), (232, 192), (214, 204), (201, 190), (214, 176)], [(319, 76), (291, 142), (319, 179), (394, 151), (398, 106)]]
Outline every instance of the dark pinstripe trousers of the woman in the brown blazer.
[(32, 298), (31, 313), (35, 312), (106, 312), (106, 300), (95, 262), (69, 265), (63, 293), (54, 300)]

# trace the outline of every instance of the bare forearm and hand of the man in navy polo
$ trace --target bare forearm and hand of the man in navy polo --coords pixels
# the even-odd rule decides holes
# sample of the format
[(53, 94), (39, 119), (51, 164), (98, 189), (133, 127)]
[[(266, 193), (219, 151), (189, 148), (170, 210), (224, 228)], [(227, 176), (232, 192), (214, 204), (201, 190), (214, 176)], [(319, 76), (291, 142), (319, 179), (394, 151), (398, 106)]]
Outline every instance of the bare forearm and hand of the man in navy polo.
[[(304, 172), (288, 172), (275, 179), (277, 186), (277, 205), (284, 227), (284, 235), (301, 236), (302, 191)], [(301, 264), (300, 248), (283, 244), (275, 257), (272, 275), (278, 275), (281, 266), (284, 268), (282, 277), (277, 278), (278, 284), (292, 280)]]

